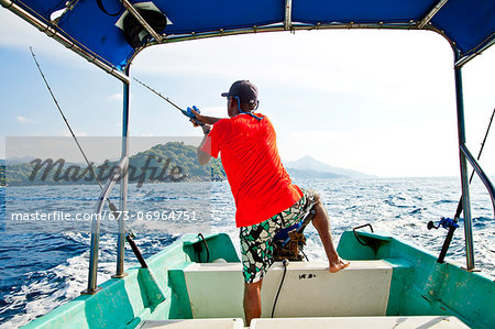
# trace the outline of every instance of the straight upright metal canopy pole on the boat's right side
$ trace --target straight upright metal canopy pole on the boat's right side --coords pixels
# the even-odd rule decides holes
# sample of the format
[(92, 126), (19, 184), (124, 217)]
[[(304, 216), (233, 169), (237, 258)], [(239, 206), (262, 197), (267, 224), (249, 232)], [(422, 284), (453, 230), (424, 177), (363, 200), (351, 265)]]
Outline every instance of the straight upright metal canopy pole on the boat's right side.
[[(459, 61), (460, 54), (454, 50), (454, 63)], [(474, 250), (473, 250), (473, 223), (471, 221), (471, 201), (470, 201), (470, 182), (468, 178), (468, 162), (462, 147), (465, 145), (465, 125), (464, 125), (464, 100), (462, 96), (462, 74), (460, 67), (454, 67), (455, 77), (455, 101), (458, 110), (458, 133), (459, 133), (459, 160), (461, 165), (462, 183), (462, 209), (464, 213), (464, 239), (466, 270), (474, 270)]]

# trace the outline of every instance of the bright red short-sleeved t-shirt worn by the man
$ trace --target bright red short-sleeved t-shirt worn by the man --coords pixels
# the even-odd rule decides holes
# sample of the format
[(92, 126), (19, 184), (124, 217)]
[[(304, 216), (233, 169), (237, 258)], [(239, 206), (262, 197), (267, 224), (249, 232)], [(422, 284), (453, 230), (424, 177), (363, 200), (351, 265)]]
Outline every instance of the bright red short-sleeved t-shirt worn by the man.
[(239, 114), (218, 121), (201, 149), (213, 157), (221, 154), (238, 228), (260, 223), (302, 197), (282, 165), (272, 122), (264, 119)]

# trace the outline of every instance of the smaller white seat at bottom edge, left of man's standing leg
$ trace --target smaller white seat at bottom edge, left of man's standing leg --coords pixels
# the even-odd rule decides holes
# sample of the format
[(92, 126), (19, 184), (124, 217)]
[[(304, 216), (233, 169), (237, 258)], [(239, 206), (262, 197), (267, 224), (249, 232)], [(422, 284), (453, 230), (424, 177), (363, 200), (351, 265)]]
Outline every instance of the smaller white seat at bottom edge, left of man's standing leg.
[(242, 329), (242, 319), (175, 319), (175, 320), (146, 320), (140, 329)]

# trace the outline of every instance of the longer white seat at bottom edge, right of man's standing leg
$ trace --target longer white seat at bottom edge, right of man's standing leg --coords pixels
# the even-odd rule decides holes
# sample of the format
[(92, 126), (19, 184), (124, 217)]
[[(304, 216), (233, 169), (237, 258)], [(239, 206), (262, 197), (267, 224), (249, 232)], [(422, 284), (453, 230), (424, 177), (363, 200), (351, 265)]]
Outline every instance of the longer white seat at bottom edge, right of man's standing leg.
[(253, 319), (251, 329), (326, 329), (326, 328), (469, 328), (457, 317), (353, 317), (353, 318), (277, 318)]

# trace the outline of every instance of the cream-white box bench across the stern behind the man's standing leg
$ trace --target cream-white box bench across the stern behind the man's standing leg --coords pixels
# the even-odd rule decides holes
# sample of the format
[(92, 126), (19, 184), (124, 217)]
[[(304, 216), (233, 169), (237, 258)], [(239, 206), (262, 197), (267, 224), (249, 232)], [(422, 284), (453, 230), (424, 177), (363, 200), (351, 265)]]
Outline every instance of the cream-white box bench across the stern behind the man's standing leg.
[[(275, 317), (385, 316), (393, 266), (353, 261), (338, 273), (327, 262), (293, 262), (275, 308)], [(241, 263), (194, 263), (184, 268), (194, 318), (242, 318), (244, 281)], [(262, 317), (271, 317), (284, 266), (275, 263), (263, 279)]]

